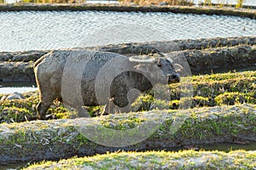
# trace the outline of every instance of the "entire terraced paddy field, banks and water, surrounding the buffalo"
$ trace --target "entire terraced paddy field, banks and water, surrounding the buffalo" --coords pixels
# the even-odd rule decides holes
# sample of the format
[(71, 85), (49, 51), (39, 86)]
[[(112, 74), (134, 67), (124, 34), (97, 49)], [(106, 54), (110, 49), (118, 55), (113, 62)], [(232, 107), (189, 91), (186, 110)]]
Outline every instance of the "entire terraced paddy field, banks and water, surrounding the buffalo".
[(16, 3), (0, 10), (0, 82), (35, 83), (37, 59), (73, 47), (127, 57), (158, 49), (182, 76), (140, 95), (128, 113), (86, 106), (89, 118), (56, 99), (41, 121), (38, 90), (0, 94), (0, 169), (256, 169), (255, 9)]

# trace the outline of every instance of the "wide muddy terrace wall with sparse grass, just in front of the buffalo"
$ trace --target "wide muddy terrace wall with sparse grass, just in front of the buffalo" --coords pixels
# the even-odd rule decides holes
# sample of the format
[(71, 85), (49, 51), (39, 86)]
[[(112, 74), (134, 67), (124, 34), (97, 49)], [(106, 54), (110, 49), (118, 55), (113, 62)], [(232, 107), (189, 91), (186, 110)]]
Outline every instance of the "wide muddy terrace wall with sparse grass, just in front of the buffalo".
[[(0, 125), (0, 164), (59, 159), (75, 155), (91, 156), (118, 150), (154, 150), (236, 140), (255, 142), (255, 114), (255, 105), (247, 104), (183, 110), (183, 115), (187, 118), (177, 132), (173, 133), (172, 130), (175, 127), (172, 122), (181, 118), (179, 111), (168, 111), (168, 113), (149, 111), (140, 114), (100, 116), (90, 118), (90, 123), (86, 122), (88, 118), (2, 123)], [(148, 139), (125, 147), (96, 144), (79, 133), (81, 130), (90, 132), (86, 134), (96, 139), (94, 141), (104, 141), (103, 139), (126, 141), (127, 138), (132, 140), (134, 131), (127, 131), (127, 134), (122, 136), (119, 133), (109, 133), (103, 127), (116, 130), (138, 127), (139, 132), (138, 125), (143, 125), (144, 122), (160, 122), (160, 124)], [(82, 127), (78, 128), (79, 125)], [(144, 127), (147, 127), (147, 124)]]

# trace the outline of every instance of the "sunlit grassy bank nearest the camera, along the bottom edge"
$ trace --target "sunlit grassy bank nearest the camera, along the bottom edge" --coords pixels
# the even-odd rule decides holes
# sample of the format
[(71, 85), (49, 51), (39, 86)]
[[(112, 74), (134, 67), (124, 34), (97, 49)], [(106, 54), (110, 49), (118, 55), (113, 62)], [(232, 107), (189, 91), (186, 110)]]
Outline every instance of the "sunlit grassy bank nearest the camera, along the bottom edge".
[(61, 161), (43, 161), (26, 169), (253, 169), (255, 152), (244, 150), (116, 152)]

